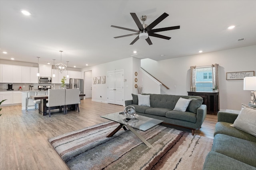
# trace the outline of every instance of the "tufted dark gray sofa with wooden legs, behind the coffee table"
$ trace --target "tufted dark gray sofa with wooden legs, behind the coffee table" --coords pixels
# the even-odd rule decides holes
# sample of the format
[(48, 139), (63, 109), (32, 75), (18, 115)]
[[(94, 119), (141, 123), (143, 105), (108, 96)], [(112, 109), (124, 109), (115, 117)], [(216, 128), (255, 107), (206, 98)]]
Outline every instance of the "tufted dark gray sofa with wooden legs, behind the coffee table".
[[(138, 106), (138, 96), (132, 94), (132, 100), (126, 100), (125, 106), (134, 106), (138, 115), (151, 117), (164, 121), (163, 123), (185, 127), (194, 130), (201, 127), (206, 117), (206, 105), (202, 105), (200, 96), (176, 96), (167, 94), (143, 94), (150, 95), (150, 107)], [(186, 111), (173, 110), (179, 98), (194, 98)]]

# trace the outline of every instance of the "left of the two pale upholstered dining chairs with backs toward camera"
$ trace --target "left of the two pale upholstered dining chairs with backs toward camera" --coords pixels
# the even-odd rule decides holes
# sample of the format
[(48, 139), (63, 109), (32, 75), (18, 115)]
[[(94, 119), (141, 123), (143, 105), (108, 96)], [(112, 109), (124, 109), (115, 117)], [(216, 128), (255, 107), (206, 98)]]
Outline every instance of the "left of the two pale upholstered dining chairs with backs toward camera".
[[(49, 117), (51, 117), (51, 109), (60, 109), (65, 106), (65, 89), (49, 89), (48, 90), (48, 102), (46, 106), (48, 107)], [(64, 114), (65, 114), (65, 108)]]

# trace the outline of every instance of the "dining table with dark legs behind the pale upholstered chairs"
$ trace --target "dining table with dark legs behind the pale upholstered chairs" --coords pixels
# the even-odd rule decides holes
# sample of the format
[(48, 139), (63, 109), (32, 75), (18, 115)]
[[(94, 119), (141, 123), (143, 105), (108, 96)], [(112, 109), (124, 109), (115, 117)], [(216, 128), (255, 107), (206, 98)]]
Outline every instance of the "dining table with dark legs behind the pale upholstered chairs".
[[(79, 94), (79, 97), (85, 96), (85, 94)], [(40, 100), (40, 104), (38, 106), (38, 113), (42, 115), (47, 115), (47, 110), (48, 107), (46, 106), (48, 95), (38, 95), (38, 96), (30, 96), (30, 98), (34, 100)], [(77, 110), (78, 104), (71, 104), (66, 107), (72, 109), (72, 110)]]

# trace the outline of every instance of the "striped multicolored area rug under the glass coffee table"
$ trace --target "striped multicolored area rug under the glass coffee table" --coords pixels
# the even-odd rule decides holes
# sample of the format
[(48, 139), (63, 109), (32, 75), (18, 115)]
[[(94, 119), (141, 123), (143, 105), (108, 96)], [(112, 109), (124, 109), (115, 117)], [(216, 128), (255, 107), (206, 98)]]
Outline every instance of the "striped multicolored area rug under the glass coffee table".
[(153, 147), (131, 131), (106, 122), (49, 139), (70, 170), (201, 170), (213, 139), (157, 125), (136, 130)]

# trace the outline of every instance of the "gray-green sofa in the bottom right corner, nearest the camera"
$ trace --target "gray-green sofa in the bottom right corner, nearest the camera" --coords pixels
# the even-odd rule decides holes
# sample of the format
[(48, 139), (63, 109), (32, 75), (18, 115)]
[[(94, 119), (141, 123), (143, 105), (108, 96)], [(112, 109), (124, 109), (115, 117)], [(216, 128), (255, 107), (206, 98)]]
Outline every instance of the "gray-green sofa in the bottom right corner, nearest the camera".
[(238, 113), (218, 112), (212, 150), (204, 170), (256, 170), (256, 137), (230, 126)]

